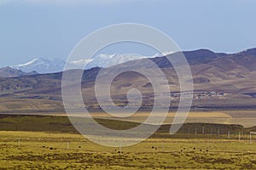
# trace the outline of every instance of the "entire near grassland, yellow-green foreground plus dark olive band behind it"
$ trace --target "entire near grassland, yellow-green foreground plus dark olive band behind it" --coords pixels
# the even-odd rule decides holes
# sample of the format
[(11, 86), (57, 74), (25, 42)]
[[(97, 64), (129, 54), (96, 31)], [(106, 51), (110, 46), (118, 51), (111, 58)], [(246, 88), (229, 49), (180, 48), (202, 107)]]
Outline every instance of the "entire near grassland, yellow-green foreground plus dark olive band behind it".
[[(135, 122), (96, 121), (114, 129), (137, 125)], [(188, 123), (176, 135), (170, 135), (169, 127), (160, 127), (143, 143), (111, 148), (84, 139), (64, 116), (1, 115), (0, 169), (256, 168), (256, 136), (252, 144), (248, 136), (252, 128)], [(222, 130), (217, 133), (217, 128)], [(230, 131), (230, 139), (227, 131)]]

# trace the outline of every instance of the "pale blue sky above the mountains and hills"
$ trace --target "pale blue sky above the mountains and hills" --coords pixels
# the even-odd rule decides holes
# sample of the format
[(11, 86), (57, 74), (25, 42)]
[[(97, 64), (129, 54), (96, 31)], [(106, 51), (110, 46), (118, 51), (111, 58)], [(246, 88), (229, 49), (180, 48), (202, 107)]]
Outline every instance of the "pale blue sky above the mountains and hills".
[(182, 50), (236, 53), (256, 47), (255, 6), (253, 0), (0, 0), (0, 67), (67, 59), (90, 32), (119, 23), (153, 26)]

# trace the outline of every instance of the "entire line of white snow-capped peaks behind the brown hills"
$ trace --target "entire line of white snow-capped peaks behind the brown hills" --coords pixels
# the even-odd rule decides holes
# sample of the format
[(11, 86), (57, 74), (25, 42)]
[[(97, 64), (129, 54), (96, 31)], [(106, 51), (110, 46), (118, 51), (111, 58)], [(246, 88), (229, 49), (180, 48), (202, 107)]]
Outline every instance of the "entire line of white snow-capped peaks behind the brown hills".
[[(154, 58), (160, 57), (166, 54), (171, 54), (166, 52), (164, 54), (154, 54), (152, 56), (143, 56), (139, 54), (98, 54), (91, 59), (79, 59), (73, 60), (69, 65), (69, 68), (73, 69), (90, 69), (93, 67), (110, 67), (113, 65), (119, 65), (127, 61), (143, 58)], [(37, 71), (38, 73), (53, 73), (58, 71), (63, 71), (66, 62), (62, 59), (32, 59), (31, 61), (21, 64), (10, 66), (13, 69), (17, 69), (23, 72)], [(84, 67), (85, 66), (85, 67)]]

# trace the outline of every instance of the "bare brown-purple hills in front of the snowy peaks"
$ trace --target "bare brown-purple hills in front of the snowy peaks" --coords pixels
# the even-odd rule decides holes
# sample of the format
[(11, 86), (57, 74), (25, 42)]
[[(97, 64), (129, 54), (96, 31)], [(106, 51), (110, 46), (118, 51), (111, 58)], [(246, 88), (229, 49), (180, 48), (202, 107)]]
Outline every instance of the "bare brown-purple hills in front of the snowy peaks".
[[(169, 54), (173, 57), (177, 55)], [(192, 71), (196, 108), (254, 108), (256, 107), (256, 48), (236, 54), (214, 53), (207, 49), (183, 52)], [(133, 65), (154, 76), (154, 67), (148, 62), (154, 61), (164, 72), (169, 82), (172, 96), (177, 96), (179, 82), (177, 74), (166, 56), (150, 59), (130, 60), (119, 65), (102, 69), (111, 74)], [(97, 107), (94, 83), (100, 67), (84, 70), (82, 94), (84, 105)], [(71, 71), (76, 75), (76, 70)], [(0, 77), (0, 110), (8, 111), (63, 111), (61, 101), (62, 72), (50, 74), (20, 75), (20, 77)], [(137, 88), (143, 94), (143, 106), (150, 107), (154, 102), (154, 89), (146, 77), (127, 71), (114, 78), (111, 94), (116, 105), (127, 104), (127, 92)], [(9, 102), (4, 102), (8, 100)], [(14, 101), (13, 103), (10, 101)], [(29, 102), (29, 103), (28, 103)], [(108, 105), (108, 102), (106, 102)], [(172, 98), (171, 107), (176, 108), (178, 99)]]

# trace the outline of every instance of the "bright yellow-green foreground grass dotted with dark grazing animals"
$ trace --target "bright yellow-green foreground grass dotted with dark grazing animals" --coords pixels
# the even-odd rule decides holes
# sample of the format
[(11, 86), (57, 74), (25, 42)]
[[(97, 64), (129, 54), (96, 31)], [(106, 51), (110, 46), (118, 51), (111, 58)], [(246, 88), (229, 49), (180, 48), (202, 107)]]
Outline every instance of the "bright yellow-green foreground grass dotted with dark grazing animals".
[(244, 139), (170, 137), (111, 148), (80, 134), (1, 131), (0, 147), (0, 169), (256, 168), (256, 136), (253, 144)]

